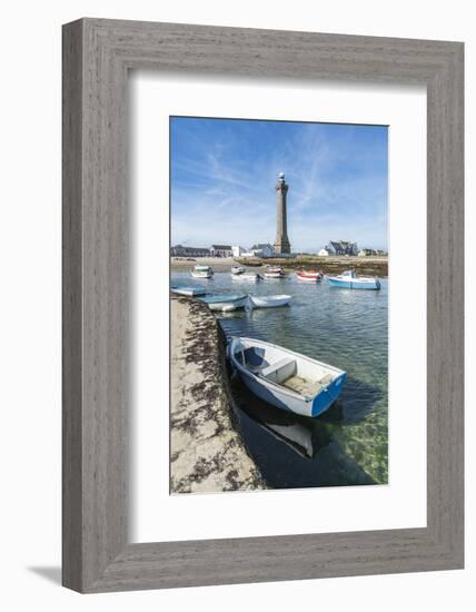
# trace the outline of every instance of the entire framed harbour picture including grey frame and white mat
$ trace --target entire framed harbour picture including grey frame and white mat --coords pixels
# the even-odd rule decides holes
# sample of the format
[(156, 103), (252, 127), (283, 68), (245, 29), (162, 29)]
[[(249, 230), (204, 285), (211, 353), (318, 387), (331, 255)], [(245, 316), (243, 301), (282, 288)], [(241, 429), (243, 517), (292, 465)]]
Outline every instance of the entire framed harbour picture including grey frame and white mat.
[(463, 45), (63, 30), (63, 584), (463, 566)]

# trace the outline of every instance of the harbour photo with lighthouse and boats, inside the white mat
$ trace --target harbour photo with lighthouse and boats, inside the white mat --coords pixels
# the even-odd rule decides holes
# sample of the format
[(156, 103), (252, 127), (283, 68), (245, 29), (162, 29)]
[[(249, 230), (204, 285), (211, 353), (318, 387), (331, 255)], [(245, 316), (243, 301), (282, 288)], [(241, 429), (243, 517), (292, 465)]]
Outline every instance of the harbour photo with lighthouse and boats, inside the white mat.
[[(171, 117), (170, 145), (172, 493), (387, 484), (388, 127)], [(217, 367), (185, 388), (207, 319), (251, 466), (231, 426), (210, 438)]]

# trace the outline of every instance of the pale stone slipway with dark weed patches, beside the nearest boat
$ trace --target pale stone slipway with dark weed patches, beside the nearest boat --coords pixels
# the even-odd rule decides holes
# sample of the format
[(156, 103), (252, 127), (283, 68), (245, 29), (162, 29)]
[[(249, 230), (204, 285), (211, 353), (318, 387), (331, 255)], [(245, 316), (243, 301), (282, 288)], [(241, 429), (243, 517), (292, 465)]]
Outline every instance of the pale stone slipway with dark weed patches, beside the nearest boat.
[(232, 412), (221, 328), (201, 302), (170, 308), (171, 493), (266, 488)]

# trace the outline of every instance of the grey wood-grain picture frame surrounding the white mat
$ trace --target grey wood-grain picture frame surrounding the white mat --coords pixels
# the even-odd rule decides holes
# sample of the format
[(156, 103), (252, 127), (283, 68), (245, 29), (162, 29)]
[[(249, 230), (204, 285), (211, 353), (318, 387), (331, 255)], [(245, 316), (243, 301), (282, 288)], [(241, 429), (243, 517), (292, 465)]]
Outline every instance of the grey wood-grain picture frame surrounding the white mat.
[[(63, 27), (66, 586), (101, 592), (463, 567), (463, 49), (459, 42), (98, 19)], [(130, 69), (426, 85), (425, 529), (128, 543)]]

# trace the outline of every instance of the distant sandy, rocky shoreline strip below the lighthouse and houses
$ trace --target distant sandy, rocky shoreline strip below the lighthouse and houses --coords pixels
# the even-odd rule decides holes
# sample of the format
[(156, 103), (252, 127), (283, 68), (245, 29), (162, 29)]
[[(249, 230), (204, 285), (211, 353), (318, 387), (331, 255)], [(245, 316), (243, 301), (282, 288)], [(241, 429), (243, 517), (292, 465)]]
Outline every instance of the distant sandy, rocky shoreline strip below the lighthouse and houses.
[(358, 275), (371, 275), (379, 277), (388, 276), (388, 256), (370, 257), (319, 257), (317, 255), (305, 255), (285, 258), (260, 259), (232, 257), (171, 257), (170, 266), (176, 270), (191, 270), (196, 264), (211, 266), (215, 272), (230, 272), (232, 266), (240, 265), (259, 272), (266, 265), (278, 265), (287, 270), (317, 268), (324, 274), (340, 274), (347, 269), (355, 269)]

